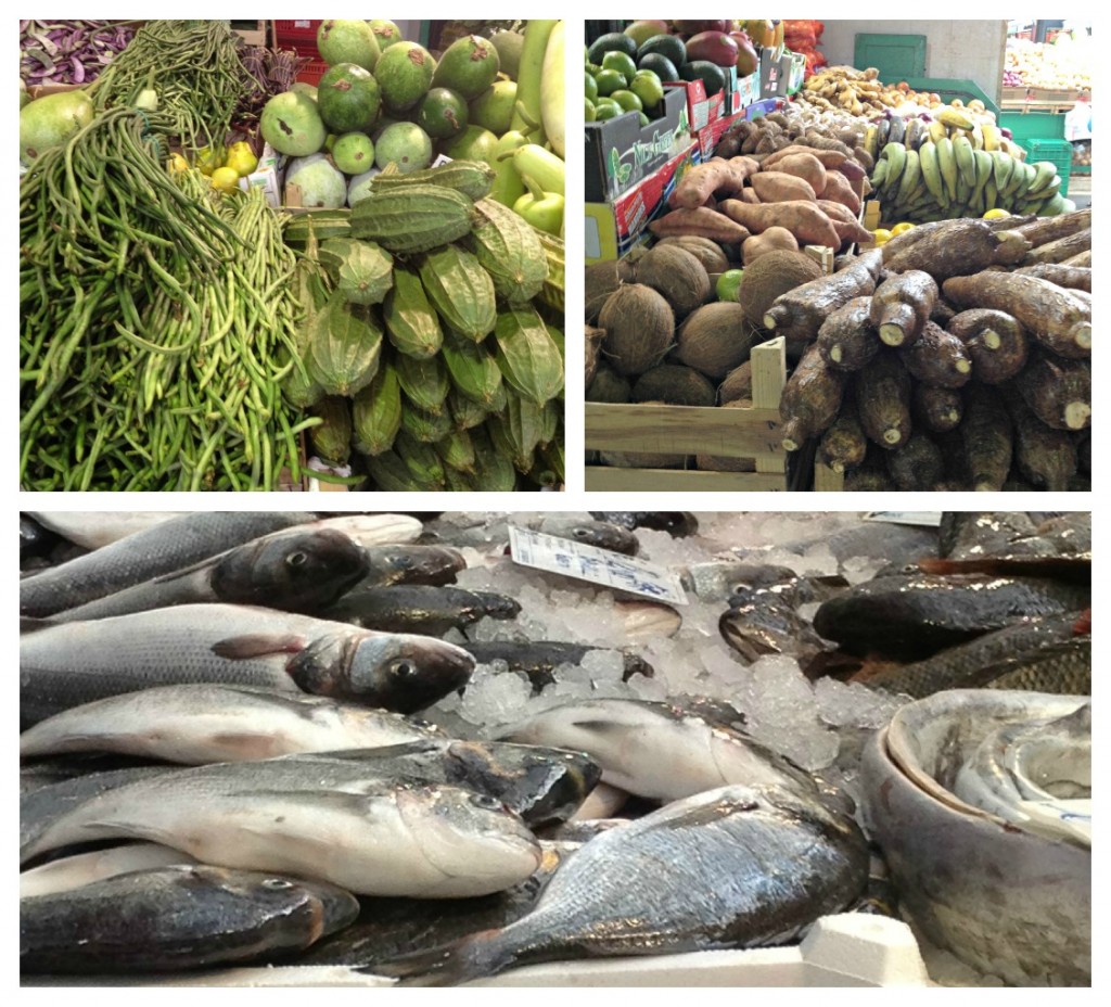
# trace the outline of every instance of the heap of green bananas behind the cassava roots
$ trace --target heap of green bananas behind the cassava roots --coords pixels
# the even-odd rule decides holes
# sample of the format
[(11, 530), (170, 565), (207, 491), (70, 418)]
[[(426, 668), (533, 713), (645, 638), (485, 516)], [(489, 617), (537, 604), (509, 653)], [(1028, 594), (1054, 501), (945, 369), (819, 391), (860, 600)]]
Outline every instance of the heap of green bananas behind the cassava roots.
[(870, 180), (888, 223), (1075, 209), (1060, 195), (1057, 167), (1025, 163), (1025, 151), (988, 121), (979, 101), (947, 107), (932, 122), (881, 119), (868, 127), (864, 148), (877, 158)]

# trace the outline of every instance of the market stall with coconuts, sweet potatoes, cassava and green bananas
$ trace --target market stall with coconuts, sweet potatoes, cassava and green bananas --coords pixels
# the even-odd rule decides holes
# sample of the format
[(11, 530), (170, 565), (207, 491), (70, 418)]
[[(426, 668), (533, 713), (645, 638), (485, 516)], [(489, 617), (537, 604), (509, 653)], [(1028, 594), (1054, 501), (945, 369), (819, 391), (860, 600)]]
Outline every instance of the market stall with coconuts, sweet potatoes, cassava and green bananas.
[[(888, 70), (819, 59), (853, 23), (589, 40), (588, 488), (1090, 487), (1071, 154), (1004, 124), (999, 61), (930, 73), (961, 58), (952, 26), (858, 33)], [(1002, 46), (1004, 22), (961, 23)]]

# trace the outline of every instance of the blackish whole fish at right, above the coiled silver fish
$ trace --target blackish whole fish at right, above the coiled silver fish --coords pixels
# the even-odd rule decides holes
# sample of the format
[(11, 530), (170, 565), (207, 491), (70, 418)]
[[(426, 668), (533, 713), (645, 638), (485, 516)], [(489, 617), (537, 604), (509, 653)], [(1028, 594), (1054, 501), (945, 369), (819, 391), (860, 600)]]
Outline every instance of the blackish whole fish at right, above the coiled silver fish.
[(1041, 578), (879, 577), (823, 602), (813, 627), (850, 652), (913, 660), (1023, 616), (1062, 615), (1090, 604), (1090, 589)]

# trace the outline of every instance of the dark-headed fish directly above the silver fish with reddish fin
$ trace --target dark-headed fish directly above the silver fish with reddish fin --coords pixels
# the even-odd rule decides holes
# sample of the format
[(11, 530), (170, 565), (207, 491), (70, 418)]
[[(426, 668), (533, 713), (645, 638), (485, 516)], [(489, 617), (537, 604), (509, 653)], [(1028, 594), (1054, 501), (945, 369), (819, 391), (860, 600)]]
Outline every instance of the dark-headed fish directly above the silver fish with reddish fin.
[(211, 559), (70, 608), (51, 622), (223, 601), (316, 612), (366, 576), (362, 547), (333, 528), (289, 528)]

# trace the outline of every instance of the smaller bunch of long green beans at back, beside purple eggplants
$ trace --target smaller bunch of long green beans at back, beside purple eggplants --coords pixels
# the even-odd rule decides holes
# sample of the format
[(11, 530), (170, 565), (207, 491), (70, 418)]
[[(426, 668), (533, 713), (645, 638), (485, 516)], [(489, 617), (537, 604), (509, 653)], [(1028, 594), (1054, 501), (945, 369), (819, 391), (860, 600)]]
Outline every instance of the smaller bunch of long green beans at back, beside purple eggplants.
[(153, 88), (159, 109), (176, 120), (171, 136), (219, 146), (236, 106), (256, 86), (239, 49), (223, 21), (148, 21), (89, 92), (103, 110), (133, 106), (140, 91)]

